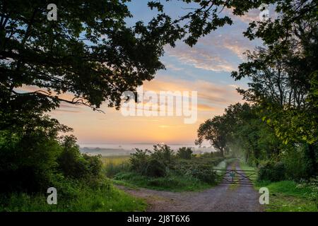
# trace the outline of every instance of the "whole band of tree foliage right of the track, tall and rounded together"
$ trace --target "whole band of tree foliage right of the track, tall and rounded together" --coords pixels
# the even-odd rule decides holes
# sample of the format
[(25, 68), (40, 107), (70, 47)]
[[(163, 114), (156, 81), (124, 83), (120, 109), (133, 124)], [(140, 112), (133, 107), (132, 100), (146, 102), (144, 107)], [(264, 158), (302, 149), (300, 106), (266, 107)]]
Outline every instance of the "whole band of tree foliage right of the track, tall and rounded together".
[[(247, 89), (237, 88), (249, 105), (230, 105), (222, 116), (201, 124), (198, 138), (224, 141), (256, 165), (273, 160), (300, 167), (298, 153), (305, 169), (297, 177), (308, 177), (318, 169), (317, 2), (275, 3), (276, 19), (249, 23), (245, 32), (251, 40), (261, 39), (263, 46), (247, 52), (247, 61), (232, 72), (235, 80), (249, 79)], [(220, 118), (228, 131), (210, 123)], [(219, 130), (226, 132), (219, 136), (214, 132)]]

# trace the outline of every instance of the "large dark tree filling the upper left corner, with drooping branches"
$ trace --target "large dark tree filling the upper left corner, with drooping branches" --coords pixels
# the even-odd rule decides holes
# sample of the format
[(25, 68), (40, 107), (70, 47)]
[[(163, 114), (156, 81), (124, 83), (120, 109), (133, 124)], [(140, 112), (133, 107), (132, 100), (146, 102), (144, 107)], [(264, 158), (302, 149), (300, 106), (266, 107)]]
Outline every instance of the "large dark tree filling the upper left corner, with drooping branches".
[[(61, 101), (93, 109), (107, 101), (118, 107), (122, 92), (151, 80), (164, 68), (163, 46), (179, 34), (160, 32), (165, 18), (129, 28), (124, 2), (59, 1), (58, 20), (49, 21), (48, 2), (1, 1), (1, 109), (29, 100), (44, 111)], [(35, 90), (18, 92), (21, 85)]]

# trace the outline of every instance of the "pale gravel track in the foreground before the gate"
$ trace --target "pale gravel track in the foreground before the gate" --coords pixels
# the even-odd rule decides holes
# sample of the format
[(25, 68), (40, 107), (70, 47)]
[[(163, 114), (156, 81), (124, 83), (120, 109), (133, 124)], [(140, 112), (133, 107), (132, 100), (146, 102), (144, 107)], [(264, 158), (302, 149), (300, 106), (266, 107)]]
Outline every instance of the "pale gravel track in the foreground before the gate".
[[(228, 169), (232, 169), (230, 165)], [(240, 169), (237, 162), (236, 169)], [(218, 184), (204, 191), (170, 192), (151, 189), (128, 189), (118, 186), (127, 193), (145, 198), (149, 204), (147, 211), (180, 212), (256, 212), (261, 211), (259, 193), (252, 185)]]

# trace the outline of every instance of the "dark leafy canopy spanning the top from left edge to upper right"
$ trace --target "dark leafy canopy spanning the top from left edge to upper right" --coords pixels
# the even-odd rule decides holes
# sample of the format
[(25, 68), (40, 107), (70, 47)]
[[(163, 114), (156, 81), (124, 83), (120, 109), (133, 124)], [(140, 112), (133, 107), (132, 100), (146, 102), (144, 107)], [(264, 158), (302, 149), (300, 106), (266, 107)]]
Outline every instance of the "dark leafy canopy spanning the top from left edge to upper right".
[[(58, 19), (51, 21), (47, 5), (52, 2), (1, 1), (1, 108), (47, 111), (61, 101), (93, 109), (102, 102), (119, 107), (124, 91), (134, 91), (164, 68), (160, 57), (165, 44), (174, 47), (177, 40), (184, 40), (192, 46), (199, 37), (232, 24), (220, 13), (224, 8), (242, 16), (261, 4), (275, 4), (280, 18), (253, 22), (245, 33), (272, 44), (289, 34), (294, 23), (312, 16), (316, 6), (314, 1), (290, 0), (182, 1), (197, 7), (172, 18), (160, 1), (148, 1), (149, 8), (158, 11), (156, 16), (146, 25), (138, 21), (133, 27), (125, 23), (132, 17), (125, 0), (58, 1)], [(22, 85), (34, 88), (18, 92)]]

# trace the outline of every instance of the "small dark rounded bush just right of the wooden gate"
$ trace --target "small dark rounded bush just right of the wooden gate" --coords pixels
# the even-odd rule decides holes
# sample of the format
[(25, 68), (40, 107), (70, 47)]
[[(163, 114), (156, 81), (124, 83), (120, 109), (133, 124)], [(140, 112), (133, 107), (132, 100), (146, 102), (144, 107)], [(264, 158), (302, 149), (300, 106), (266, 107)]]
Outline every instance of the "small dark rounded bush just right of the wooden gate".
[(285, 179), (285, 165), (283, 162), (266, 162), (259, 168), (258, 180), (278, 182)]

